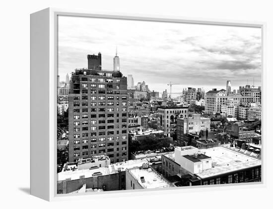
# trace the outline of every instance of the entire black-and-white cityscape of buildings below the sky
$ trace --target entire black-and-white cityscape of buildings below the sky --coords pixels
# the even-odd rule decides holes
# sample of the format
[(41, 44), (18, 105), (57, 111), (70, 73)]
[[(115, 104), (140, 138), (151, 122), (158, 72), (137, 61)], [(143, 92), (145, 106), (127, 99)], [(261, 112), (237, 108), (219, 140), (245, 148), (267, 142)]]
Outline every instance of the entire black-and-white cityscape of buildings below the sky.
[(58, 76), (58, 194), (261, 181), (261, 86), (173, 97), (102, 56)]

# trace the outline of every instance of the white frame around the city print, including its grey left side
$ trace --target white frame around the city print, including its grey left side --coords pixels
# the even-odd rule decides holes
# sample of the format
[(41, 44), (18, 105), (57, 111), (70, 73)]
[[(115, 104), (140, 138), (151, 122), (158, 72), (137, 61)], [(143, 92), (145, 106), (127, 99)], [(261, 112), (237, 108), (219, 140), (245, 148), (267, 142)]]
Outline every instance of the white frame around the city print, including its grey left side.
[[(47, 201), (83, 200), (107, 197), (129, 197), (142, 195), (164, 195), (183, 192), (202, 192), (212, 190), (233, 190), (261, 188), (266, 186), (266, 140), (265, 126), (262, 129), (262, 182), (243, 183), (225, 186), (177, 187), (168, 190), (125, 190), (109, 191), (98, 194), (57, 195), (57, 17), (58, 15), (134, 19), (145, 21), (164, 21), (178, 23), (213, 24), (243, 27), (259, 27), (262, 29), (262, 123), (265, 124), (266, 106), (266, 69), (265, 41), (266, 23), (238, 20), (215, 20), (205, 18), (185, 18), (148, 14), (128, 14), (117, 12), (98, 12), (86, 10), (47, 8), (31, 14), (31, 177), (30, 194)], [(91, 196), (92, 195), (92, 196)], [(72, 198), (71, 198), (72, 197)]]

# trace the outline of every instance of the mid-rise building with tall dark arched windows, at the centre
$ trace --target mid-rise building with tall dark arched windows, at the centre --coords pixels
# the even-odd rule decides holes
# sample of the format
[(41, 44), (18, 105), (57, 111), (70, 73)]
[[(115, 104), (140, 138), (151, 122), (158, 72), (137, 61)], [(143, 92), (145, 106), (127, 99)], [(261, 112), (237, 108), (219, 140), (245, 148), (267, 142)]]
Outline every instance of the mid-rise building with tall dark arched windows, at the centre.
[(158, 107), (157, 130), (165, 132), (166, 137), (172, 137), (176, 131), (177, 118), (189, 116), (188, 107)]

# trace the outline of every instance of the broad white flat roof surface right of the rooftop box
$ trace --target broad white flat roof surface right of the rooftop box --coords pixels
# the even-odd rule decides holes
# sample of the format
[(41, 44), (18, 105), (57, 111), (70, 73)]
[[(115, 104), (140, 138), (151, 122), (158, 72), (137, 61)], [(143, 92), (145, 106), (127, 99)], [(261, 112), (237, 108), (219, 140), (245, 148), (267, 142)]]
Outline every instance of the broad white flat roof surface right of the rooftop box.
[(260, 159), (223, 146), (216, 146), (202, 150), (205, 151), (205, 155), (211, 157), (212, 168), (204, 170), (202, 173), (195, 174), (200, 178), (208, 178), (262, 165)]

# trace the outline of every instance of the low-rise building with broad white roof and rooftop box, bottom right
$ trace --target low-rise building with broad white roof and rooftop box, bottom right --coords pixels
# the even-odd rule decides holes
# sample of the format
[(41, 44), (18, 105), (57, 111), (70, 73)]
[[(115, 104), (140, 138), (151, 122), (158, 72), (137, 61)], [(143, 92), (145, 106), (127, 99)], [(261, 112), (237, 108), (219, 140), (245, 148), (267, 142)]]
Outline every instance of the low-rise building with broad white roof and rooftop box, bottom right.
[(186, 179), (185, 186), (259, 182), (262, 162), (255, 156), (224, 146), (176, 147), (175, 153), (162, 155), (163, 176)]

